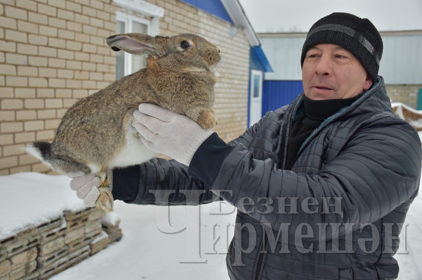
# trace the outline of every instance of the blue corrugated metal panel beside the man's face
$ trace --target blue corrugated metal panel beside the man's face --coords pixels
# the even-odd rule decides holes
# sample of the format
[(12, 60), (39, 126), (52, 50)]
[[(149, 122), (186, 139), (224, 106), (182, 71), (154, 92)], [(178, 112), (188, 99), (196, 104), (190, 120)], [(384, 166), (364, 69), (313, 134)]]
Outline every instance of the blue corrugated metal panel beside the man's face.
[(262, 84), (262, 116), (290, 104), (303, 92), (302, 81), (264, 81)]

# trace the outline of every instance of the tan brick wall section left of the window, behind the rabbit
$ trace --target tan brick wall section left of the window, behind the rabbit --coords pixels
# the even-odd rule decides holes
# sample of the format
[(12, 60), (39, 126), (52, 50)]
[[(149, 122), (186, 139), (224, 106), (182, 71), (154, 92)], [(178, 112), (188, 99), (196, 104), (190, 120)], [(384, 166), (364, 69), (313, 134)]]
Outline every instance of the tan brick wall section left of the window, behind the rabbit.
[(46, 172), (19, 148), (51, 142), (74, 102), (114, 81), (104, 38), (115, 33), (116, 8), (110, 0), (0, 2), (0, 174)]

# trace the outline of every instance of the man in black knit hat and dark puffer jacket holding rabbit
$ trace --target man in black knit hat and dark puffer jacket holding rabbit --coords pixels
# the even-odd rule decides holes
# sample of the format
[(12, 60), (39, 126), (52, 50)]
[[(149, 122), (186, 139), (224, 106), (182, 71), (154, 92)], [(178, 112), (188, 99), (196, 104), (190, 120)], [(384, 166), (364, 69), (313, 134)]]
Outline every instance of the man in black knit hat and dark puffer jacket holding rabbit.
[[(154, 204), (149, 191), (161, 189), (176, 190), (166, 204), (238, 207), (231, 279), (397, 278), (393, 255), (418, 193), (422, 149), (417, 131), (392, 113), (381, 55), (368, 19), (325, 16), (303, 45), (304, 92), (228, 144), (186, 116), (141, 104), (139, 137), (173, 160), (114, 170), (114, 199)], [(187, 189), (204, 194), (186, 199), (179, 191)]]

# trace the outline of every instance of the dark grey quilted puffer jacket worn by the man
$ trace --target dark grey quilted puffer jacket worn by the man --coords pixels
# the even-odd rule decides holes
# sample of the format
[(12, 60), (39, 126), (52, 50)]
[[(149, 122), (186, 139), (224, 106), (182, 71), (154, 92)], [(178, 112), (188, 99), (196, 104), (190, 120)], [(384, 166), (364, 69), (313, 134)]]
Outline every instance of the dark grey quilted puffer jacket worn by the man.
[[(417, 131), (392, 113), (379, 76), (362, 97), (323, 121), (284, 170), (289, 129), (305, 113), (302, 96), (228, 144), (214, 133), (189, 169), (155, 158), (114, 170), (115, 199), (156, 205), (224, 199), (238, 207), (226, 257), (233, 280), (395, 279), (394, 237), (419, 189)], [(169, 201), (155, 200), (154, 189), (168, 190)], [(187, 199), (180, 192), (187, 189), (204, 193)]]

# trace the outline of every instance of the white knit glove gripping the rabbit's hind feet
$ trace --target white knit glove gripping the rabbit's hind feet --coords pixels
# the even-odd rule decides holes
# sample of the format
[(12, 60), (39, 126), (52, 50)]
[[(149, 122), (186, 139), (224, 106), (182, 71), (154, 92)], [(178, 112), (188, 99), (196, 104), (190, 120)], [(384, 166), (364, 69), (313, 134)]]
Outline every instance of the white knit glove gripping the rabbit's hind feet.
[(101, 186), (101, 180), (94, 173), (84, 173), (82, 171), (66, 174), (70, 181), (70, 188), (76, 191), (76, 196), (84, 199), (84, 204), (94, 207), (95, 202), (100, 196), (98, 188)]

